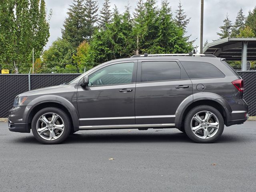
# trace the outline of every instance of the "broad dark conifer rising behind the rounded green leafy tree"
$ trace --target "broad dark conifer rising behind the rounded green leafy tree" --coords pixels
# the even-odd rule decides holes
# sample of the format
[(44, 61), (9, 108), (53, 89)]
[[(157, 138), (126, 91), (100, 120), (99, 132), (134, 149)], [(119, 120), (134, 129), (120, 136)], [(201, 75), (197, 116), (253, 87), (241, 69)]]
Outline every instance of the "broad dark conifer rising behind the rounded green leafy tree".
[(62, 38), (71, 42), (74, 47), (78, 47), (88, 36), (83, 2), (84, 0), (73, 0), (63, 24)]

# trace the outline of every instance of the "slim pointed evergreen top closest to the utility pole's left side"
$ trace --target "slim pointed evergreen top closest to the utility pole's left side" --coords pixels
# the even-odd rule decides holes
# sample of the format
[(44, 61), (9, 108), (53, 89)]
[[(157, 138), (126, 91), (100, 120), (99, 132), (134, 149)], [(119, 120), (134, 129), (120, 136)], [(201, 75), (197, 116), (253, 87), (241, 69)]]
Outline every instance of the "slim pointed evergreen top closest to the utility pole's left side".
[(186, 32), (186, 28), (188, 26), (188, 23), (190, 22), (190, 18), (187, 19), (186, 12), (184, 9), (182, 9), (182, 4), (179, 2), (178, 9), (175, 11), (176, 16), (175, 16), (175, 21), (178, 27), (182, 28), (184, 32)]

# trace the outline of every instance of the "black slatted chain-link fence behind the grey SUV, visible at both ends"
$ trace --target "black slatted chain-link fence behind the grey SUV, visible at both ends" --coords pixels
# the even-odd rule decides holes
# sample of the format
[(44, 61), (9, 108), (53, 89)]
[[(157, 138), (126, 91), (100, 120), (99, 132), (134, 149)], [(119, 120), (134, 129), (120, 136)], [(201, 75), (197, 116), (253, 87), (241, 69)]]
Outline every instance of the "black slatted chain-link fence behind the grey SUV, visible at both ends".
[[(238, 72), (244, 79), (244, 99), (256, 116), (256, 71)], [(80, 74), (0, 74), (0, 118), (8, 117), (15, 96), (29, 90), (70, 82)], [(30, 79), (30, 83), (29, 83)]]

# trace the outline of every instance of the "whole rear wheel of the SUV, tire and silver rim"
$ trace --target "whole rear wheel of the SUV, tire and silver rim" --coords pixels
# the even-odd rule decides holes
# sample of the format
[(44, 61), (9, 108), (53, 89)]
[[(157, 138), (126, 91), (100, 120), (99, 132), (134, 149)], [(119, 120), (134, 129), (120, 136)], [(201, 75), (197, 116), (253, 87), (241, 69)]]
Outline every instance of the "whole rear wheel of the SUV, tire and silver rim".
[(222, 114), (212, 106), (192, 108), (184, 122), (185, 132), (190, 139), (198, 143), (215, 142), (224, 130)]

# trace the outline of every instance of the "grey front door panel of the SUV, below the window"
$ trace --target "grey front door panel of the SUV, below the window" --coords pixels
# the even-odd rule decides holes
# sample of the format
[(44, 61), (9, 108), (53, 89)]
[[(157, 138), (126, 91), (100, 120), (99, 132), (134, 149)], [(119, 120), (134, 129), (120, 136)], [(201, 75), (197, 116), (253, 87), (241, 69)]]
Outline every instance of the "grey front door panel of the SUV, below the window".
[(135, 124), (134, 96), (135, 84), (78, 88), (80, 125)]

